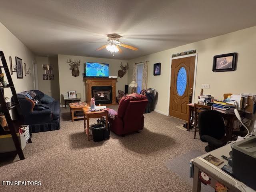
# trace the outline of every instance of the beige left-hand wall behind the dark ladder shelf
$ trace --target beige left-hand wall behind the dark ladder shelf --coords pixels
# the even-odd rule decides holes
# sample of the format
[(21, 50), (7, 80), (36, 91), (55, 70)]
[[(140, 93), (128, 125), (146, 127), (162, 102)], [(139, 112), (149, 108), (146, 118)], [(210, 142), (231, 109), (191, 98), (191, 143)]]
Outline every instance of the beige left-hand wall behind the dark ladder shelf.
[[(12, 63), (15, 64), (15, 56), (22, 59), (23, 64), (23, 79), (17, 79), (17, 74), (12, 74), (12, 81), (14, 83), (16, 92), (22, 92), (24, 90), (34, 89), (34, 76), (33, 76), (33, 60), (34, 54), (22, 43), (16, 36), (14, 36), (2, 23), (0, 23), (0, 50), (4, 52), (6, 62), (10, 69), (9, 56), (12, 57)], [(30, 68), (30, 75), (25, 76), (24, 62), (26, 68)], [(1, 63), (1, 61), (0, 61)], [(1, 63), (2, 65), (2, 63)], [(4, 70), (2, 71), (3, 73)], [(7, 79), (5, 78), (7, 81)], [(11, 97), (10, 89), (4, 90), (5, 96)]]

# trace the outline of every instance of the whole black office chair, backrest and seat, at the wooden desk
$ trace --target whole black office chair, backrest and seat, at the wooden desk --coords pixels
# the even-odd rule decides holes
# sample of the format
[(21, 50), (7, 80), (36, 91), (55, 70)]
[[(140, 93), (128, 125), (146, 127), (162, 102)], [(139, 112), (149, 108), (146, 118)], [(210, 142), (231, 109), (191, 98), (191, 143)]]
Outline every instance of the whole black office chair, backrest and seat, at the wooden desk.
[(198, 115), (198, 128), (202, 142), (208, 142), (204, 149), (210, 152), (226, 144), (225, 124), (220, 112), (206, 110)]

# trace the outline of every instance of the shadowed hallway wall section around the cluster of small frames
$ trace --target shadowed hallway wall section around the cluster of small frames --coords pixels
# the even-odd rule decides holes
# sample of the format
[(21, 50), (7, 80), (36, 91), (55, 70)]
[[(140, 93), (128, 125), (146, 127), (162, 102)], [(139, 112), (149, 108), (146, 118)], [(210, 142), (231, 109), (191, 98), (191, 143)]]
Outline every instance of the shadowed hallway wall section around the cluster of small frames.
[[(58, 56), (52, 57), (36, 57), (37, 73), (38, 73), (38, 89), (44, 94), (52, 96), (55, 100), (60, 100), (59, 73), (58, 73)], [(43, 80), (43, 64), (52, 64), (54, 70), (54, 80)]]

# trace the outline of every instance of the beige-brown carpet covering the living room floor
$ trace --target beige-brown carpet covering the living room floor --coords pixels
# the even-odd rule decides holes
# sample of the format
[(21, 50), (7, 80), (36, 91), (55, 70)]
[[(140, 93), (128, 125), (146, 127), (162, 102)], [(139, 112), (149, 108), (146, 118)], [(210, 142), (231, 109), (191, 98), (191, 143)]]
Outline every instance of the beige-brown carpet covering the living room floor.
[[(117, 109), (118, 106), (110, 106)], [(0, 167), (0, 181), (41, 181), (41, 186), (2, 186), (0, 191), (161, 191), (187, 192), (186, 180), (165, 162), (190, 150), (204, 152), (193, 132), (177, 128), (182, 120), (151, 112), (144, 130), (104, 142), (86, 141), (83, 121), (70, 121), (62, 109), (61, 128), (33, 134), (25, 160)], [(90, 120), (94, 123), (96, 119)], [(16, 158), (17, 159), (17, 158)]]

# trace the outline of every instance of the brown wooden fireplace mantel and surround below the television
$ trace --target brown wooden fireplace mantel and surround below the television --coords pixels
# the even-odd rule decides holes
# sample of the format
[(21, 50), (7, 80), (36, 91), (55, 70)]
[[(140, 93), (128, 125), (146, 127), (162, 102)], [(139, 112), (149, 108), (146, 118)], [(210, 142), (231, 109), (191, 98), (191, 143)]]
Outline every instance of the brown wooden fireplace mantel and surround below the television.
[(86, 90), (86, 102), (90, 104), (92, 98), (92, 86), (112, 86), (112, 104), (116, 104), (116, 80), (117, 78), (84, 78)]

